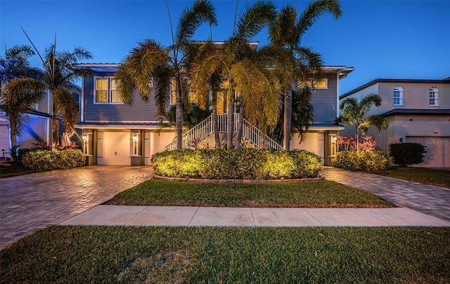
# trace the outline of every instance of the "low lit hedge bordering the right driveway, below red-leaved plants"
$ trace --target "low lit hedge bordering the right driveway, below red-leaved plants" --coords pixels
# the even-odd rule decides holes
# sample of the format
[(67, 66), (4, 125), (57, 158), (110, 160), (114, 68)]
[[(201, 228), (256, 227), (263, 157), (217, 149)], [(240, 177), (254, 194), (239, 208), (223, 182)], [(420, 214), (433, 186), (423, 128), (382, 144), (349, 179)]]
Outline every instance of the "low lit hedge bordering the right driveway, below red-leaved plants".
[(389, 157), (382, 151), (340, 151), (331, 161), (335, 168), (344, 170), (388, 170)]

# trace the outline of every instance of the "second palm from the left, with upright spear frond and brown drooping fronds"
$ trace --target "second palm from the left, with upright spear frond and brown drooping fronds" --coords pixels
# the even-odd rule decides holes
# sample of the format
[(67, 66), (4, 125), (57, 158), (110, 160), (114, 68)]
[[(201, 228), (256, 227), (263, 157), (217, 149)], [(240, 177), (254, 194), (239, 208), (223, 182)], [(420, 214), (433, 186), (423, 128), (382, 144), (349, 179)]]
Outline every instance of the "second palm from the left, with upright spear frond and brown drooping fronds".
[(65, 89), (68, 83), (74, 83), (91, 71), (87, 68), (75, 67), (80, 60), (92, 58), (89, 50), (75, 47), (73, 51), (57, 51), (55, 42), (45, 48), (44, 58), (34, 46), (30, 36), (23, 30), (44, 65), (44, 81), (53, 96), (52, 144), (59, 140), (59, 116), (66, 132), (73, 130), (78, 119), (78, 108), (75, 97)]

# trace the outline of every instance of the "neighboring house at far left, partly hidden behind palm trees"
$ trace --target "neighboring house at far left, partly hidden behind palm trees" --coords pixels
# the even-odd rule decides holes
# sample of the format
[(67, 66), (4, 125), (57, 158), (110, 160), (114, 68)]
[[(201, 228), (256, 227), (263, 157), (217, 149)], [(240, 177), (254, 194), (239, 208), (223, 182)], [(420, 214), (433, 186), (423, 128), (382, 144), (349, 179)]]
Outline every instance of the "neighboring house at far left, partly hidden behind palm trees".
[[(65, 87), (72, 92), (75, 100), (79, 102), (81, 96), (81, 89), (75, 84), (68, 84)], [(53, 100), (49, 90), (46, 91), (44, 98), (36, 104), (34, 111), (29, 114), (27, 123), (23, 128), (22, 135), (17, 137), (17, 144), (20, 145), (19, 149), (26, 149), (34, 147), (33, 143), (37, 142), (49, 142), (51, 141), (51, 116), (53, 114)], [(63, 128), (60, 127), (60, 135), (62, 135)], [(8, 120), (4, 112), (0, 111), (0, 147), (6, 149), (8, 154), (6, 157), (10, 158), (11, 154), (11, 141), (8, 128)], [(81, 143), (79, 143), (81, 144)], [(81, 145), (79, 145), (81, 146)], [(3, 153), (0, 153), (3, 156)]]

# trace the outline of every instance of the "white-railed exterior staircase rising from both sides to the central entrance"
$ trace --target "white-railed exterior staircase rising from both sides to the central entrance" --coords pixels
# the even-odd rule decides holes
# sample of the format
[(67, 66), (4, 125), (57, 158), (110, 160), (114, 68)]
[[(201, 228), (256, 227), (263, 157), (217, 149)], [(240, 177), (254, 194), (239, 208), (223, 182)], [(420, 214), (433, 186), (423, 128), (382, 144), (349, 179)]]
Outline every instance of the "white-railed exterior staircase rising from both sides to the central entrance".
[[(226, 120), (226, 114), (219, 114), (218, 115), (218, 124), (219, 124), (219, 133), (226, 133), (227, 132), (227, 120)], [(239, 121), (239, 114), (234, 114), (234, 126), (233, 126), (233, 133), (238, 133), (238, 121)], [(281, 150), (283, 147), (275, 142), (271, 137), (265, 135), (262, 133), (258, 128), (253, 126), (250, 122), (247, 120), (243, 120), (243, 130), (242, 130), (242, 137), (245, 142), (250, 142), (255, 147), (264, 147), (264, 148), (274, 148)], [(198, 142), (204, 140), (206, 137), (214, 134), (214, 125), (212, 123), (212, 115), (209, 116), (204, 121), (198, 123), (196, 126), (191, 128), (190, 130), (186, 131), (186, 133), (183, 134), (183, 149), (190, 149), (192, 147), (195, 148), (195, 145), (198, 144)], [(174, 150), (176, 149), (176, 139), (168, 144), (166, 147), (166, 150)]]

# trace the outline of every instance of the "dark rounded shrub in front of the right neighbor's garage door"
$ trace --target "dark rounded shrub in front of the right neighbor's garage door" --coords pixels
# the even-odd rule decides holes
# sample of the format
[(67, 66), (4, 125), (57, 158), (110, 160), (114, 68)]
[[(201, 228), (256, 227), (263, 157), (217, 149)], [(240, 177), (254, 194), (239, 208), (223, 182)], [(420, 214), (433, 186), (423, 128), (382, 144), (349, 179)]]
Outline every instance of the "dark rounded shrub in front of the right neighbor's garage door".
[(389, 145), (389, 156), (392, 163), (406, 167), (422, 163), (425, 158), (425, 146), (420, 143), (392, 143)]

